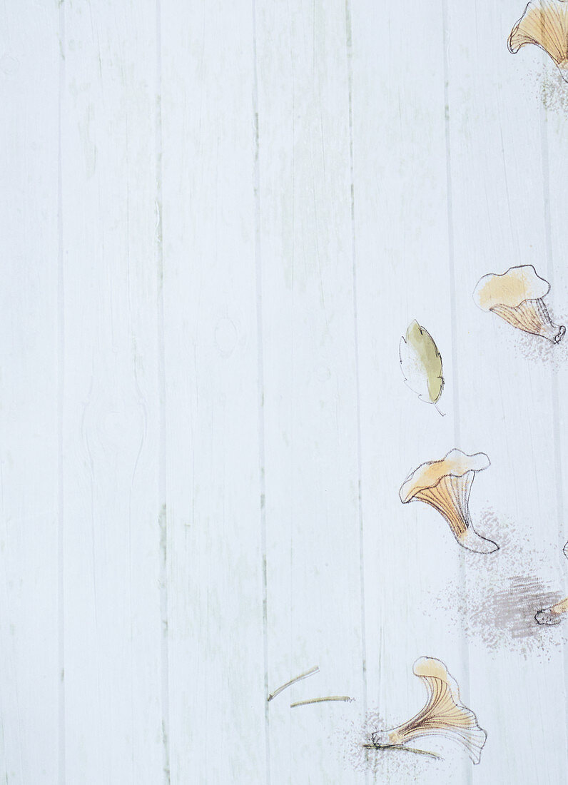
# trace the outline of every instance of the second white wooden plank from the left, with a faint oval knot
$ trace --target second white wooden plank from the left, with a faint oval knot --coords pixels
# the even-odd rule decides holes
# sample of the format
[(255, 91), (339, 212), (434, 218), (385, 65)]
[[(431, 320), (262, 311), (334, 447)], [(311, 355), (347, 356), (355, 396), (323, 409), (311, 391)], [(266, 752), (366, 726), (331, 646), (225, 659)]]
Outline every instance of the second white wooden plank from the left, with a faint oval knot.
[(161, 782), (155, 10), (65, 4), (68, 782)]

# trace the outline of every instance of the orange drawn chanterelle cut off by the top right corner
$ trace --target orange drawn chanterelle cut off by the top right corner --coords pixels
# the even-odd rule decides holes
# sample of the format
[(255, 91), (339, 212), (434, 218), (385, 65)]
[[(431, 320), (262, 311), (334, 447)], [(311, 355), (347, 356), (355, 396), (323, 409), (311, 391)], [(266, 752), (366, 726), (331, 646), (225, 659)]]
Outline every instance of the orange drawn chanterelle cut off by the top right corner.
[(525, 44), (535, 44), (552, 57), (568, 82), (568, 2), (531, 0), (509, 35), (508, 49), (516, 54)]

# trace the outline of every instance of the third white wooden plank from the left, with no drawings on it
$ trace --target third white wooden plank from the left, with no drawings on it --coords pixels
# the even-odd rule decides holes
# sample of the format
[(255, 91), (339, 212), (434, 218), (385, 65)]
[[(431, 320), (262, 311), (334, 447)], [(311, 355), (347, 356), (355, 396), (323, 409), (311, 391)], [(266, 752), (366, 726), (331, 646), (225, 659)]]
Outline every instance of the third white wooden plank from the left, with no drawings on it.
[(161, 19), (171, 780), (264, 782), (253, 17)]

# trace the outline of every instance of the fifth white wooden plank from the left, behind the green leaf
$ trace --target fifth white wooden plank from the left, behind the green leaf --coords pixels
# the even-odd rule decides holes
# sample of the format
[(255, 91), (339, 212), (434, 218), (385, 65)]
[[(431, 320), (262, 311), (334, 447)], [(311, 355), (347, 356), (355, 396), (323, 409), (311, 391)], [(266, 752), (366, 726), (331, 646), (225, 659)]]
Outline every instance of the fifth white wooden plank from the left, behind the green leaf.
[[(361, 368), (362, 497), (369, 707), (387, 727), (424, 705), (420, 656), (441, 659), (469, 699), (468, 648), (437, 597), (460, 586), (461, 549), (439, 513), (402, 506), (399, 488), (421, 463), (461, 440), (451, 297), (442, 6), (353, 3), (355, 260)], [(413, 320), (442, 353), (440, 409), (405, 384), (399, 341)], [(486, 557), (490, 558), (490, 557)], [(472, 702), (473, 701), (473, 696)], [(469, 705), (469, 703), (468, 703)], [(428, 749), (442, 749), (428, 739)], [(420, 745), (419, 745), (420, 746)], [(452, 782), (471, 762), (450, 745)], [(432, 761), (373, 754), (375, 782), (439, 781)], [(411, 756), (416, 757), (416, 756)], [(408, 767), (401, 769), (400, 767)], [(406, 781), (406, 780), (405, 780)], [(450, 780), (448, 780), (450, 781)]]

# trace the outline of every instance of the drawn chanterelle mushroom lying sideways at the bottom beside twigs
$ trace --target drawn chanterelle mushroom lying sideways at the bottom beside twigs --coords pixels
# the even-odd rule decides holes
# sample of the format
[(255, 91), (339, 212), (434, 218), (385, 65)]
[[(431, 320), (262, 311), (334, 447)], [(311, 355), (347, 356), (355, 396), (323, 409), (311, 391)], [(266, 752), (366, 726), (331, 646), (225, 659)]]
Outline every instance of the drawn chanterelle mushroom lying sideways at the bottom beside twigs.
[(387, 749), (419, 736), (445, 736), (463, 744), (472, 761), (479, 763), (487, 734), (479, 727), (472, 710), (461, 704), (460, 688), (444, 663), (434, 657), (421, 657), (414, 663), (413, 673), (428, 690), (426, 705), (398, 728), (373, 733), (375, 747)]

